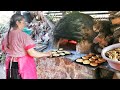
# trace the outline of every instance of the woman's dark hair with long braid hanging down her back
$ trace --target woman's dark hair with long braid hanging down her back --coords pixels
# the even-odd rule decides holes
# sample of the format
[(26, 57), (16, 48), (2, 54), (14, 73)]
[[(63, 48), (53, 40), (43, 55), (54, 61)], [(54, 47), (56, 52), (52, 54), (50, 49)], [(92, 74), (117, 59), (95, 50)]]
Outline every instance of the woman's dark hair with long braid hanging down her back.
[(14, 14), (10, 18), (10, 24), (9, 24), (9, 30), (7, 35), (7, 48), (9, 48), (9, 33), (11, 30), (11, 27), (17, 27), (16, 21), (21, 21), (24, 17), (21, 14)]

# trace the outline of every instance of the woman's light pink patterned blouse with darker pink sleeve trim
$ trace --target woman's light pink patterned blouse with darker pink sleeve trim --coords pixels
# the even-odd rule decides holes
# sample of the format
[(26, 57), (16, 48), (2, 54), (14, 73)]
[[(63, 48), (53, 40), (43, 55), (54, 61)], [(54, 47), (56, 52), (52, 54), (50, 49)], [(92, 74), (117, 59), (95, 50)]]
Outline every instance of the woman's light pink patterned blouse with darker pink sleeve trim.
[(21, 30), (12, 30), (9, 34), (9, 47), (7, 48), (7, 36), (2, 42), (3, 50), (12, 57), (22, 57), (27, 55), (26, 50), (35, 47), (34, 41), (29, 35)]

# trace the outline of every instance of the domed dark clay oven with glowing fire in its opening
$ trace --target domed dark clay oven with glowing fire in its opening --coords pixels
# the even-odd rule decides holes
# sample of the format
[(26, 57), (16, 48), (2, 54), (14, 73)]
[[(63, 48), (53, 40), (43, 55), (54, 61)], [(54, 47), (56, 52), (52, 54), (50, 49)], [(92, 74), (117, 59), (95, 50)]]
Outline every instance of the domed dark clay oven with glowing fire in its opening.
[(81, 51), (81, 42), (91, 43), (95, 37), (93, 24), (93, 18), (87, 14), (76, 11), (65, 15), (53, 30), (53, 47)]

